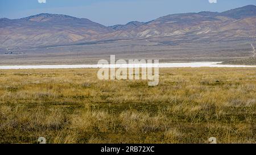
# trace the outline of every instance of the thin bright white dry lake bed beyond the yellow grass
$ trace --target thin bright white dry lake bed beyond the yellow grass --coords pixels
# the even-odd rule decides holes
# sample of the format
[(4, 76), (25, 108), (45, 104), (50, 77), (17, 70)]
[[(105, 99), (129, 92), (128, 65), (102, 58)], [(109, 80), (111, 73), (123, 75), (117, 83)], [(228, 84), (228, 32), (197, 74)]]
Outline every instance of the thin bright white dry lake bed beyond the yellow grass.
[(75, 69), (75, 68), (256, 68), (252, 65), (222, 65), (221, 62), (183, 62), (163, 64), (115, 64), (115, 65), (9, 65), (0, 69)]

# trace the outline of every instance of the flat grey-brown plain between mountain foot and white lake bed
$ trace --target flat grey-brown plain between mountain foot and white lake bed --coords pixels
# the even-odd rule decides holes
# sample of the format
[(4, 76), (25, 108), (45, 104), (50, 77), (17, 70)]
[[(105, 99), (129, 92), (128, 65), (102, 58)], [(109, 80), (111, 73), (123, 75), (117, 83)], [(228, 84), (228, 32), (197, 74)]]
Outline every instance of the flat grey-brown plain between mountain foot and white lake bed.
[[(201, 43), (200, 41), (169, 41), (157, 39), (123, 40), (106, 43), (61, 45), (56, 47), (15, 48), (13, 54), (0, 49), (0, 65), (72, 65), (97, 64), (101, 59), (158, 59), (163, 62), (226, 61), (226, 64), (255, 65), (253, 48), (255, 40), (228, 40)], [(19, 53), (15, 53), (19, 51)], [(233, 62), (233, 60), (243, 60)], [(231, 63), (233, 62), (233, 63)]]

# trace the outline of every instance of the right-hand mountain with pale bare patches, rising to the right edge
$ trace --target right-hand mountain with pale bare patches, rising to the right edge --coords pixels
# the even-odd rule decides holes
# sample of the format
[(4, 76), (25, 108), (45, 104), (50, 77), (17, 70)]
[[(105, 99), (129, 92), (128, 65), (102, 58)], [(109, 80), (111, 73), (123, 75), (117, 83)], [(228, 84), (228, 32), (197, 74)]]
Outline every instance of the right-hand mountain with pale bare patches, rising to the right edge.
[[(237, 12), (237, 13), (236, 13)], [(174, 14), (144, 23), (125, 32), (133, 38), (172, 37), (182, 39), (233, 39), (256, 35), (256, 6), (245, 6), (225, 12)], [(129, 35), (127, 35), (129, 36)]]

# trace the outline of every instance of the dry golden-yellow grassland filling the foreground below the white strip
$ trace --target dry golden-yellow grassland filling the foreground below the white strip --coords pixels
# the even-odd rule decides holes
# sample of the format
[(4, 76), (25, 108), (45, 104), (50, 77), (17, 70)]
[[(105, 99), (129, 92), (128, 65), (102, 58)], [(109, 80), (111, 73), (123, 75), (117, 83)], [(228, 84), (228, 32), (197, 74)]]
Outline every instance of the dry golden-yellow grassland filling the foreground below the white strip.
[(160, 69), (160, 83), (96, 69), (0, 70), (0, 143), (256, 143), (256, 69)]

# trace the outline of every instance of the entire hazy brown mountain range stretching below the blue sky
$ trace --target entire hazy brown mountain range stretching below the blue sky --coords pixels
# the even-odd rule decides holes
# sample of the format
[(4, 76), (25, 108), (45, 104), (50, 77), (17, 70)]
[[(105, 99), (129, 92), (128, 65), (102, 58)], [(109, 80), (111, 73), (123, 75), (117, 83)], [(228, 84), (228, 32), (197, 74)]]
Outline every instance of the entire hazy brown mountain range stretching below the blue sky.
[(0, 19), (0, 47), (40, 47), (107, 40), (157, 39), (221, 41), (256, 37), (256, 6), (225, 12), (162, 16), (150, 22), (106, 27), (85, 18), (39, 14), (22, 19)]

